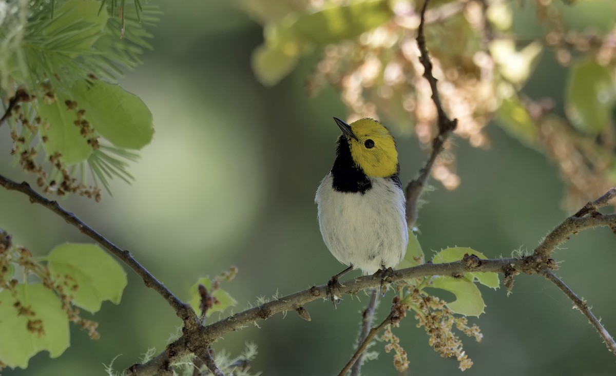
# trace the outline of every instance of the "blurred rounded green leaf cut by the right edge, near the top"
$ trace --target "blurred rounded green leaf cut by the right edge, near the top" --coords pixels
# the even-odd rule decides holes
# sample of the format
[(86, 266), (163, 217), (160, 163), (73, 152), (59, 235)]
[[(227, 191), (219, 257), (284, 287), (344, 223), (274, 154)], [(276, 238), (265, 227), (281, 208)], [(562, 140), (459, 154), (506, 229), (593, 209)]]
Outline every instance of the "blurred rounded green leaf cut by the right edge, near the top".
[(596, 135), (611, 123), (616, 104), (614, 75), (594, 60), (583, 60), (569, 69), (565, 106), (578, 130)]

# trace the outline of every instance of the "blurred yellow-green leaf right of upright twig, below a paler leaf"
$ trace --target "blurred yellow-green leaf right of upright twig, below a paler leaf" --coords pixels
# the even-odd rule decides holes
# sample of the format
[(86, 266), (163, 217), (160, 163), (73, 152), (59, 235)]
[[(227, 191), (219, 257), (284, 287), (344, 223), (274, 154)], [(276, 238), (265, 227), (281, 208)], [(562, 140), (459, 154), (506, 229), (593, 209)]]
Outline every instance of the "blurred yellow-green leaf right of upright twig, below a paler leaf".
[(527, 146), (537, 145), (538, 125), (530, 117), (517, 95), (503, 99), (500, 108), (496, 111), (496, 120), (498, 120), (498, 125), (521, 143)]

